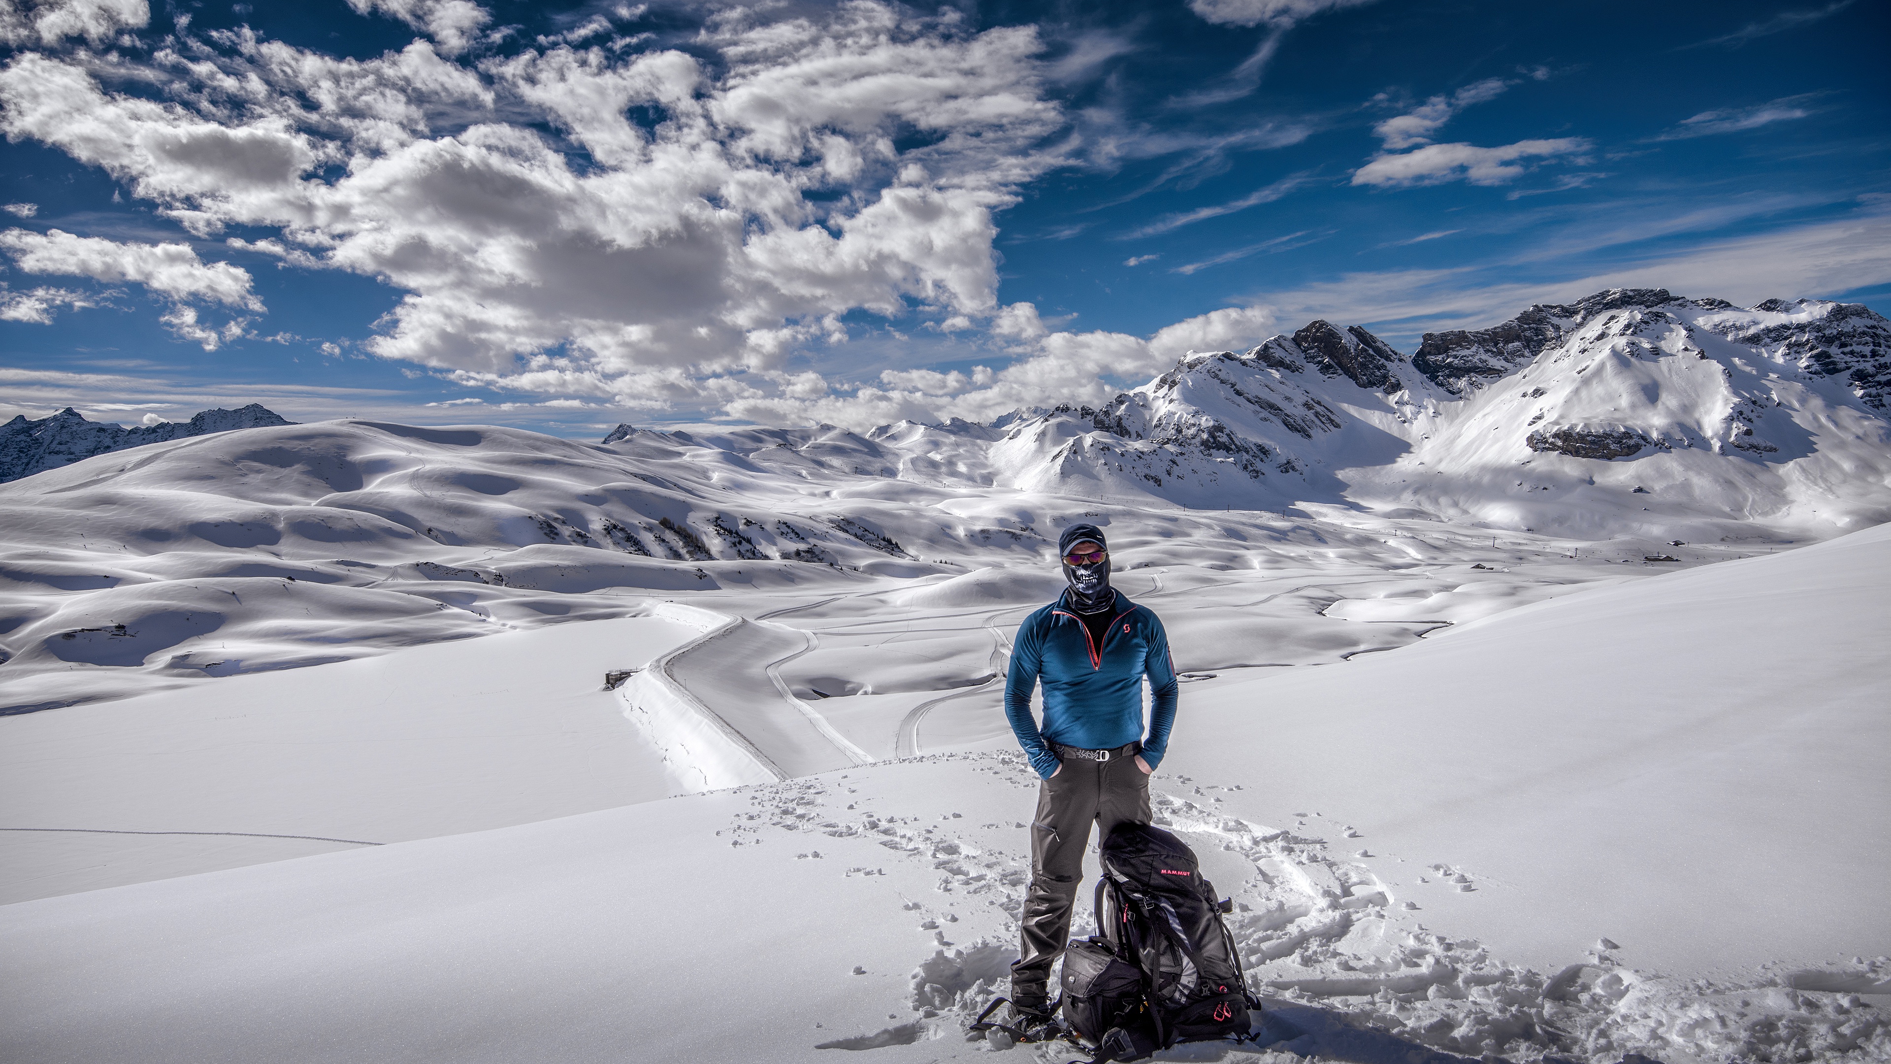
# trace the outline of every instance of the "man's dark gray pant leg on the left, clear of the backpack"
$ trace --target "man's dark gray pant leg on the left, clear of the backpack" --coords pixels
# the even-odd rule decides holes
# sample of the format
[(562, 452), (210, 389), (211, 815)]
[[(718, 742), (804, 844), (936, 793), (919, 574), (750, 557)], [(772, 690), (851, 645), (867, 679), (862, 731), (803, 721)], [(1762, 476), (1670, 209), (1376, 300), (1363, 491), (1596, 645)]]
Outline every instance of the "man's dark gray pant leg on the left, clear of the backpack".
[(1012, 1000), (1038, 1005), (1050, 1000), (1051, 966), (1070, 941), (1070, 911), (1084, 886), (1084, 848), (1097, 820), (1106, 765), (1070, 759), (1038, 784), (1038, 812), (1031, 824), (1031, 892), (1019, 918), (1019, 956), (1012, 966)]

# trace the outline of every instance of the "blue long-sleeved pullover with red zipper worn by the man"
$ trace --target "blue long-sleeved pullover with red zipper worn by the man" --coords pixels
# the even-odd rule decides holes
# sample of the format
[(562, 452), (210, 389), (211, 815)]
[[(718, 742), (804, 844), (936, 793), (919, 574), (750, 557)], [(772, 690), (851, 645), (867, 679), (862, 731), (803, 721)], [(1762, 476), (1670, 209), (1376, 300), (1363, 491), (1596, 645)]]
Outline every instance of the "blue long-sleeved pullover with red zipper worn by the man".
[[(1169, 750), (1176, 719), (1176, 670), (1169, 634), (1144, 606), (1116, 593), (1102, 646), (1091, 646), (1084, 619), (1063, 598), (1025, 617), (1012, 640), (1012, 672), (1004, 680), (1004, 716), (1038, 776), (1051, 778), (1051, 742), (1084, 750), (1116, 750), (1142, 740), (1150, 769)], [(1150, 678), (1154, 706), (1142, 735), (1142, 678)], [(1044, 683), (1044, 727), (1031, 716), (1031, 691)]]

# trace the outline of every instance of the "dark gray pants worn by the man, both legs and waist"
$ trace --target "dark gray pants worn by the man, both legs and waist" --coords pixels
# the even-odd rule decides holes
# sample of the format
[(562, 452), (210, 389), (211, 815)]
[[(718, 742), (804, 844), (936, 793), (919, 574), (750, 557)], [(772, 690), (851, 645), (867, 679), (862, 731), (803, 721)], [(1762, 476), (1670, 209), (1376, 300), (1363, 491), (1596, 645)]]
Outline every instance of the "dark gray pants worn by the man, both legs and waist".
[(1070, 941), (1070, 911), (1084, 886), (1089, 825), (1097, 841), (1118, 824), (1150, 822), (1150, 776), (1136, 767), (1136, 746), (1108, 761), (1065, 757), (1063, 771), (1038, 784), (1038, 814), (1031, 824), (1031, 894), (1019, 928), (1019, 958), (1012, 966), (1012, 1000), (1044, 1005), (1051, 966)]

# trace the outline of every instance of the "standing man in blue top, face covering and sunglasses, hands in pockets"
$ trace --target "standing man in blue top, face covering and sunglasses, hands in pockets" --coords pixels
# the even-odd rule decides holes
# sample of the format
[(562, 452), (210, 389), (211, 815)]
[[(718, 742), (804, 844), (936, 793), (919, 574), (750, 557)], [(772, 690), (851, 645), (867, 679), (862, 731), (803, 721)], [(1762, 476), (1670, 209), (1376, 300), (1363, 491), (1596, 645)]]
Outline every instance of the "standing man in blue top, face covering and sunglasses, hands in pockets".
[[(1084, 882), (1089, 825), (1097, 839), (1123, 822), (1150, 822), (1150, 772), (1169, 748), (1176, 672), (1163, 623), (1110, 587), (1110, 551), (1095, 524), (1057, 538), (1070, 587), (1017, 629), (1004, 714), (1038, 778), (1031, 824), (1031, 894), (1012, 966), (1014, 1020), (1050, 1022), (1050, 973), (1070, 939), (1070, 909)], [(1142, 678), (1154, 706), (1142, 735)], [(1044, 725), (1031, 691), (1044, 683)]]

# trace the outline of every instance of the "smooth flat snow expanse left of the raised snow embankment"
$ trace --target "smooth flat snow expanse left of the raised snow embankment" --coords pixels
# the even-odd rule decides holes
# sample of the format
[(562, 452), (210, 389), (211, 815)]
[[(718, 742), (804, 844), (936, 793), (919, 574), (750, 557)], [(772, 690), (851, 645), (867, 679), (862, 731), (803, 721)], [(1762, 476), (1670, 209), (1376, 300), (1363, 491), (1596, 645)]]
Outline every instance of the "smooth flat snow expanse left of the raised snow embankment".
[(664, 797), (603, 674), (696, 634), (594, 621), (8, 718), (4, 825), (85, 831), (0, 831), (0, 903)]

